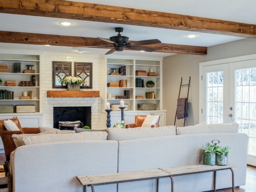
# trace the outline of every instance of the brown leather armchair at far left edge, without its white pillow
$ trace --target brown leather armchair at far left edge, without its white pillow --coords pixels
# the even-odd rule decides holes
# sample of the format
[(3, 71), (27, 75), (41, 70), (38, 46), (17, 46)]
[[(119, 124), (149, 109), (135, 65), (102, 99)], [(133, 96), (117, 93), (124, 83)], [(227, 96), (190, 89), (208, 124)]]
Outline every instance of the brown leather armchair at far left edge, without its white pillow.
[[(7, 120), (7, 119), (5, 119)], [(6, 157), (6, 161), (10, 161), (10, 154), (12, 151), (14, 151), (17, 147), (13, 141), (13, 138), (11, 137), (12, 134), (30, 134), (30, 133), (40, 133), (39, 128), (32, 128), (32, 127), (21, 127), (21, 124), (19, 122), (19, 119), (10, 119), (13, 121), (17, 127), (20, 129), (20, 131), (7, 131), (4, 126), (4, 120), (0, 120), (0, 136), (3, 141), (4, 145), (4, 153)]]

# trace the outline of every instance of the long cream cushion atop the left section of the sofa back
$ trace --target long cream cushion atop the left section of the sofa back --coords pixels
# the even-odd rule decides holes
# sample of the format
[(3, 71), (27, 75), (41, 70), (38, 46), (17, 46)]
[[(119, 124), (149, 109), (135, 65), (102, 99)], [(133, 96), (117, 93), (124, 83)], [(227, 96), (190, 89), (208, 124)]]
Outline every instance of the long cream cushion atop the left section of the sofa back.
[(106, 140), (107, 133), (104, 131), (99, 132), (81, 132), (70, 134), (47, 134), (38, 136), (23, 137), (25, 145), (36, 143), (47, 143), (56, 141), (74, 141), (74, 140)]

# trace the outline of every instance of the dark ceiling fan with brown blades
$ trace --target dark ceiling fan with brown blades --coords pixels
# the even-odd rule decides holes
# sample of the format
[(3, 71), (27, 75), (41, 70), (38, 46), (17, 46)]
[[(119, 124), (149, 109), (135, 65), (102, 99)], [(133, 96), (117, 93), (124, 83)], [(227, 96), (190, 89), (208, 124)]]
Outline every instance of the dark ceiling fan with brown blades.
[(142, 41), (132, 41), (128, 42), (129, 37), (122, 36), (120, 33), (123, 32), (124, 28), (116, 27), (115, 31), (118, 32), (117, 36), (109, 37), (109, 39), (97, 37), (103, 41), (111, 43), (111, 45), (99, 45), (99, 46), (84, 46), (84, 47), (72, 47), (73, 49), (77, 48), (86, 48), (86, 47), (113, 47), (113, 49), (109, 50), (105, 55), (114, 53), (115, 51), (123, 51), (124, 47), (130, 50), (135, 51), (146, 51), (146, 52), (153, 52), (156, 49), (150, 47), (143, 47), (140, 45), (150, 45), (161, 43), (158, 39), (149, 39), (149, 40), (142, 40)]

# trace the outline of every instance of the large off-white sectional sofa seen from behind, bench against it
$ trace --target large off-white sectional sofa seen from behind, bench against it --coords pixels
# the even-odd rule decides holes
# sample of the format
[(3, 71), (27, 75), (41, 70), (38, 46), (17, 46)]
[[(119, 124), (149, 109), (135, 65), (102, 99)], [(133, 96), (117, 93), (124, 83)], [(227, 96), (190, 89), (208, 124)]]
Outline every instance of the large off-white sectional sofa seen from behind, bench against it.
[[(230, 126), (235, 127), (234, 124), (230, 124)], [(191, 128), (192, 133), (196, 132), (195, 129), (200, 130), (199, 127), (195, 127)], [(83, 187), (76, 179), (77, 175), (202, 163), (201, 149), (207, 142), (214, 139), (220, 140), (220, 146), (231, 147), (228, 161), (238, 165), (234, 168), (235, 186), (245, 185), (248, 146), (246, 134), (235, 133), (237, 132), (236, 127), (234, 129), (231, 127), (226, 131), (228, 133), (225, 133), (223, 129), (218, 130), (216, 127), (209, 128), (211, 133), (203, 134), (190, 134), (191, 132), (189, 133), (185, 129), (182, 131), (182, 128), (177, 128), (177, 133), (181, 135), (176, 135), (174, 126), (112, 128), (107, 131), (107, 137), (113, 140), (58, 141), (18, 147), (11, 154), (13, 191), (82, 192)], [(218, 133), (214, 133), (214, 129)], [(231, 171), (217, 171), (217, 189), (231, 186)], [(160, 179), (159, 192), (170, 190), (170, 179)], [(213, 190), (212, 172), (174, 177), (175, 192), (209, 190)], [(87, 187), (87, 191), (90, 192), (91, 189)], [(117, 191), (153, 192), (156, 191), (156, 180), (95, 186), (95, 192)]]

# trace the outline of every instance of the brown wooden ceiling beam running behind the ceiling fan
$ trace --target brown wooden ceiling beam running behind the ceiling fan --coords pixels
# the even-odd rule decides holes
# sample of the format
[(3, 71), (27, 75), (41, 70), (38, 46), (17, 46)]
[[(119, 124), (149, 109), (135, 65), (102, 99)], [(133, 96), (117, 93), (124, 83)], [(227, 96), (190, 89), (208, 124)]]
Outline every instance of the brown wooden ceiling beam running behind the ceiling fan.
[[(36, 45), (50, 44), (55, 46), (72, 46), (72, 47), (111, 45), (106, 41), (102, 41), (98, 38), (91, 38), (91, 37), (75, 37), (75, 36), (65, 36), (65, 35), (49, 35), (49, 34), (39, 34), (39, 33), (10, 32), (10, 31), (0, 31), (0, 42), (36, 44)], [(177, 44), (167, 44), (167, 43), (158, 43), (158, 44), (143, 45), (143, 46), (152, 47), (156, 49), (155, 52), (193, 54), (193, 55), (207, 54), (207, 47), (201, 47), (201, 46), (177, 45)], [(111, 49), (112, 47), (98, 47), (98, 48)]]

